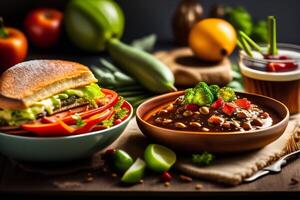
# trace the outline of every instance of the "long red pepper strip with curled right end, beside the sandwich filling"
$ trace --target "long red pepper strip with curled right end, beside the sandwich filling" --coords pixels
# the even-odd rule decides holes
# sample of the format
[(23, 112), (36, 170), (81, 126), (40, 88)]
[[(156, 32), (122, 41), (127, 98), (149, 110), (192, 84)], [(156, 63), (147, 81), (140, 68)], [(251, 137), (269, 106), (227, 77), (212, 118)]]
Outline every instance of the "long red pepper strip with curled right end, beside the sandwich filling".
[[(108, 90), (108, 89), (101, 89), (101, 91), (106, 95), (112, 96), (110, 101), (106, 105), (96, 108), (96, 109), (87, 110), (87, 111), (82, 110), (85, 107), (81, 107), (81, 110), (78, 110), (79, 108), (77, 108), (77, 110), (74, 109), (74, 112), (73, 112), (73, 110), (65, 111), (63, 113), (58, 113), (57, 115), (53, 115), (50, 117), (44, 117), (42, 119), (42, 122), (53, 123), (53, 122), (57, 122), (58, 120), (61, 120), (67, 124), (75, 124), (76, 121), (72, 118), (72, 115), (74, 115), (75, 113), (78, 113), (78, 115), (81, 117), (81, 119), (86, 119), (90, 116), (93, 116), (95, 114), (103, 112), (104, 110), (114, 106), (118, 102), (118, 94), (115, 91)], [(77, 112), (75, 112), (75, 111), (77, 111)]]

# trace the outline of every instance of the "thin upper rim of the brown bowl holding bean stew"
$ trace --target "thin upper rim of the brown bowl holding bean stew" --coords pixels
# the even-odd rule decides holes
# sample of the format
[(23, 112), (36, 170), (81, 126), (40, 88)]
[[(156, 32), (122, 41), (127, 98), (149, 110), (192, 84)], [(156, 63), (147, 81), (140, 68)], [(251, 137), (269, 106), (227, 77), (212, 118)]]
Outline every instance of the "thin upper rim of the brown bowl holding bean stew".
[[(262, 131), (269, 131), (271, 129), (274, 129), (274, 128), (277, 128), (277, 127), (280, 127), (282, 126), (286, 121), (288, 121), (289, 119), (289, 116), (290, 116), (290, 113), (289, 113), (289, 110), (288, 108), (283, 104), (281, 103), (280, 101), (276, 100), (276, 99), (273, 99), (271, 97), (267, 97), (267, 96), (264, 96), (264, 95), (259, 95), (259, 94), (254, 94), (254, 93), (248, 93), (248, 92), (237, 92), (239, 94), (246, 94), (246, 95), (251, 95), (251, 96), (258, 96), (258, 97), (262, 97), (262, 98), (266, 98), (266, 99), (269, 99), (271, 101), (275, 101), (276, 103), (278, 103), (280, 106), (282, 106), (282, 108), (284, 108), (285, 112), (286, 112), (286, 115), (283, 119), (281, 119), (278, 123), (270, 126), (270, 127), (267, 127), (267, 128), (263, 128), (263, 129), (258, 129), (258, 130), (252, 130), (252, 131), (232, 131), (232, 132), (204, 132), (204, 131), (181, 131), (181, 130), (173, 130), (173, 129), (167, 129), (167, 128), (162, 128), (162, 127), (159, 127), (159, 126), (155, 126), (153, 124), (150, 124), (149, 122), (145, 121), (139, 114), (139, 111), (140, 109), (147, 103), (151, 102), (151, 101), (154, 101), (154, 100), (157, 100), (157, 99), (160, 99), (160, 98), (163, 98), (165, 96), (168, 96), (168, 95), (180, 95), (180, 94), (183, 94), (184, 93), (184, 90), (182, 91), (177, 91), (177, 92), (171, 92), (171, 93), (168, 93), (168, 94), (163, 94), (163, 95), (159, 95), (159, 96), (156, 96), (156, 97), (153, 97), (153, 98), (150, 98), (148, 100), (146, 100), (145, 102), (143, 102), (142, 104), (140, 104), (136, 110), (136, 117), (138, 120), (142, 121), (144, 124), (146, 124), (147, 126), (150, 126), (152, 128), (155, 128), (155, 129), (158, 129), (158, 130), (161, 130), (163, 132), (170, 132), (172, 131), (173, 133), (176, 133), (176, 134), (185, 134), (185, 135), (212, 135), (212, 136), (232, 136), (232, 135), (254, 135), (256, 133), (259, 133), (259, 132), (262, 132)], [(172, 96), (173, 96), (172, 95)]]

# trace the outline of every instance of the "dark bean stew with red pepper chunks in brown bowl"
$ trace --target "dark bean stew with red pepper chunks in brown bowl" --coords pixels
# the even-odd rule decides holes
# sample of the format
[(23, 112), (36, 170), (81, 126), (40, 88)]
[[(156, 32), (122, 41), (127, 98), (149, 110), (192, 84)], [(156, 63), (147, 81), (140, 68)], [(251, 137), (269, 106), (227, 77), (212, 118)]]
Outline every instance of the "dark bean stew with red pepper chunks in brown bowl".
[[(149, 113), (145, 120), (162, 128), (196, 132), (246, 132), (267, 128), (279, 122), (274, 111), (262, 108), (232, 91), (230, 94), (234, 94), (234, 97), (228, 98), (227, 94), (227, 101), (224, 101), (222, 95), (216, 95), (211, 103), (199, 105), (196, 101), (186, 101), (186, 91), (185, 95), (179, 96), (175, 101)], [(201, 98), (201, 95), (195, 96)]]

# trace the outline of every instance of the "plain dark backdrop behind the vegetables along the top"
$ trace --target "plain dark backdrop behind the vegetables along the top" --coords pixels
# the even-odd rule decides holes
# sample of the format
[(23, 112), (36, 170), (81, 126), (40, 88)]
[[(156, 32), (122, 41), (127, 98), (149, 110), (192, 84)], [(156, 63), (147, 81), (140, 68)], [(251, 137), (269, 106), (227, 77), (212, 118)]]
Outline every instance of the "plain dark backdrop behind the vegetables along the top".
[[(170, 21), (180, 0), (116, 0), (126, 16), (124, 40), (129, 41), (146, 34), (156, 33), (160, 41), (172, 39)], [(67, 0), (0, 0), (0, 16), (8, 26), (20, 26), (25, 13), (34, 7), (64, 8)], [(300, 44), (299, 0), (199, 0), (206, 13), (211, 5), (244, 5), (254, 19), (276, 15), (278, 40)]]

